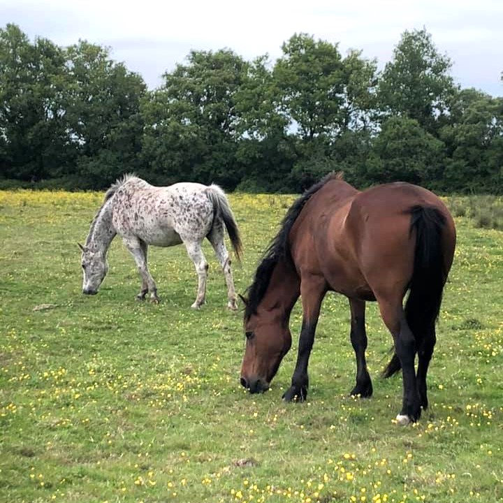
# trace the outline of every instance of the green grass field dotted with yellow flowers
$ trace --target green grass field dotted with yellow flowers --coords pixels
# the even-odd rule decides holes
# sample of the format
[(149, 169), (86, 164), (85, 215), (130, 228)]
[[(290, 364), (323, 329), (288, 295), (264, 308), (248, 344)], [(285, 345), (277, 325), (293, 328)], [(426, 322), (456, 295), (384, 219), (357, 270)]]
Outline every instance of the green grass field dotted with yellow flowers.
[[(162, 302), (134, 300), (112, 243), (97, 296), (80, 251), (103, 194), (0, 191), (1, 502), (503, 501), (503, 233), (456, 218), (458, 249), (429, 374), (430, 409), (400, 428), (391, 336), (367, 307), (374, 397), (349, 398), (349, 306), (323, 304), (307, 403), (286, 404), (293, 347), (263, 395), (240, 387), (242, 312), (210, 262), (207, 304), (183, 247), (150, 249)], [(293, 196), (230, 196), (244, 292)], [(457, 201), (459, 204), (459, 200)]]

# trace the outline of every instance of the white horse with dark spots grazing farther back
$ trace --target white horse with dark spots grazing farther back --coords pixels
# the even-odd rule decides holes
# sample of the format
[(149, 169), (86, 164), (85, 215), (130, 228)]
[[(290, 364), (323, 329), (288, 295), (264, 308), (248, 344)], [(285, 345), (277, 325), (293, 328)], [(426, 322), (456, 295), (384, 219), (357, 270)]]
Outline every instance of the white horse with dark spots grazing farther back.
[(157, 287), (147, 266), (148, 246), (170, 247), (183, 243), (198, 275), (197, 296), (191, 305), (198, 309), (205, 303), (208, 264), (201, 243), (207, 238), (224, 270), (227, 306), (236, 310), (238, 305), (231, 259), (224, 242), (224, 226), (240, 260), (240, 231), (220, 187), (191, 182), (154, 187), (132, 174), (124, 175), (106, 192), (85, 245), (78, 244), (82, 250), (82, 293), (98, 293), (108, 272), (108, 247), (119, 234), (140, 272), (142, 286), (136, 296), (138, 300), (144, 300), (150, 293), (151, 300), (159, 302)]

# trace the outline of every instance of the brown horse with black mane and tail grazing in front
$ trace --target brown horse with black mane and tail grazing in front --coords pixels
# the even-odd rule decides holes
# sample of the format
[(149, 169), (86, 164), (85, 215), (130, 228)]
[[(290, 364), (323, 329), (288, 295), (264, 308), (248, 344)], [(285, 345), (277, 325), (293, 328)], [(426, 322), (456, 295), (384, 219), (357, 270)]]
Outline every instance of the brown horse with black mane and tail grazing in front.
[(372, 395), (365, 362), (365, 301), (377, 300), (395, 347), (384, 376), (402, 368), (403, 404), (397, 421), (417, 421), (421, 407), (428, 407), (426, 374), (454, 249), (453, 219), (432, 192), (407, 183), (358, 191), (341, 175), (328, 175), (286, 213), (258, 265), (248, 298), (243, 298), (247, 340), (242, 386), (251, 393), (268, 389), (291, 347), (289, 318), (300, 295), (298, 357), (283, 398), (305, 400), (321, 302), (327, 291), (336, 291), (349, 298), (351, 307), (357, 367), (351, 394)]

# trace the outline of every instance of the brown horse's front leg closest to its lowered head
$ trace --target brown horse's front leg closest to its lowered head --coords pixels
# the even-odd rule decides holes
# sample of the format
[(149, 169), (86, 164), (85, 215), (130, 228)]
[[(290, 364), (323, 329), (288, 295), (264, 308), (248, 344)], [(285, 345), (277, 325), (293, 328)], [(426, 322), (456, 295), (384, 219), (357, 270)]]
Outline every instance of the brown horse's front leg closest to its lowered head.
[(300, 295), (302, 296), (302, 328), (300, 330), (297, 363), (291, 379), (290, 388), (284, 393), (283, 400), (291, 402), (298, 400), (303, 402), (307, 398), (309, 377), (307, 365), (314, 344), (314, 333), (318, 324), (321, 301), (326, 293), (324, 278), (310, 277), (302, 279), (300, 283)]

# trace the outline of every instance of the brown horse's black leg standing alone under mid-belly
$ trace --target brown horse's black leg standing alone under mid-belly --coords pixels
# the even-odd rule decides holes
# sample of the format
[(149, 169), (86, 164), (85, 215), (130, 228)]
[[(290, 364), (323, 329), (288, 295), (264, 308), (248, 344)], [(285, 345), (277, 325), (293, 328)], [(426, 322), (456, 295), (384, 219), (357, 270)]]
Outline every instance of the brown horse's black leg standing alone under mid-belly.
[(367, 370), (365, 350), (367, 349), (367, 333), (365, 332), (365, 301), (349, 299), (351, 307), (351, 344), (356, 355), (356, 386), (351, 395), (362, 398), (372, 396), (372, 381)]

